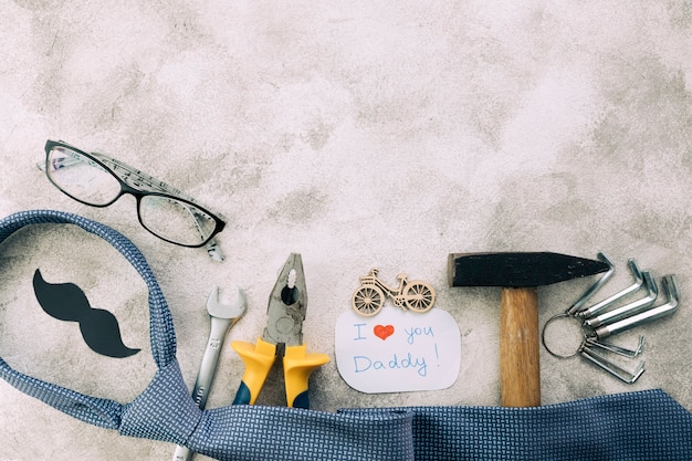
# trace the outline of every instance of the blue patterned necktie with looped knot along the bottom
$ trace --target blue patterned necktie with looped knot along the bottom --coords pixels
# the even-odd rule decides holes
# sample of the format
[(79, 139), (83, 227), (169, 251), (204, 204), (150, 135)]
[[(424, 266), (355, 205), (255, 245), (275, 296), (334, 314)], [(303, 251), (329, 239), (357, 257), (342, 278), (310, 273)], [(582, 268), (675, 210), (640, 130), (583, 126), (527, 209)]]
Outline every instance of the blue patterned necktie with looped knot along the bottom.
[(0, 220), (0, 243), (25, 226), (41, 223), (75, 224), (103, 238), (133, 264), (149, 290), (150, 342), (158, 371), (129, 404), (35, 379), (0, 358), (0, 377), (10, 385), (87, 423), (184, 444), (221, 461), (692, 460), (692, 415), (662, 390), (535, 408), (200, 410), (176, 359), (168, 304), (139, 250), (104, 224), (52, 210), (22, 211)]

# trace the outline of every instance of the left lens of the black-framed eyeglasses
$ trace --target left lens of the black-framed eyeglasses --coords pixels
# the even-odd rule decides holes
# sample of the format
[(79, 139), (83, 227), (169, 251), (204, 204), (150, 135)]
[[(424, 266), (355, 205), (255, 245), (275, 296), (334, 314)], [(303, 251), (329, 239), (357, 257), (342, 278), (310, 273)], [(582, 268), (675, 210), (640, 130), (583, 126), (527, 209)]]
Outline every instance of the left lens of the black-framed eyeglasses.
[(120, 184), (96, 161), (65, 147), (53, 147), (45, 171), (51, 181), (84, 203), (105, 206), (120, 193)]

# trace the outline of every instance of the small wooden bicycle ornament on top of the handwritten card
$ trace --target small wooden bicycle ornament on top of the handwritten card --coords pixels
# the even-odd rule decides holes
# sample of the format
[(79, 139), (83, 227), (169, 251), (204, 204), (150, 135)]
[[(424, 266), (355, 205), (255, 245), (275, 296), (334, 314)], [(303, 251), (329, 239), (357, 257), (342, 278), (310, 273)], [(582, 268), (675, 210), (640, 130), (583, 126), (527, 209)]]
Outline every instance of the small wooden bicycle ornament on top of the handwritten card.
[(434, 289), (429, 283), (415, 280), (409, 282), (408, 275), (399, 274), (399, 286), (392, 289), (378, 279), (377, 269), (371, 269), (360, 277), (360, 286), (354, 292), (352, 306), (359, 315), (371, 317), (381, 311), (385, 295), (391, 297), (394, 304), (403, 311), (419, 314), (430, 311), (434, 304)]

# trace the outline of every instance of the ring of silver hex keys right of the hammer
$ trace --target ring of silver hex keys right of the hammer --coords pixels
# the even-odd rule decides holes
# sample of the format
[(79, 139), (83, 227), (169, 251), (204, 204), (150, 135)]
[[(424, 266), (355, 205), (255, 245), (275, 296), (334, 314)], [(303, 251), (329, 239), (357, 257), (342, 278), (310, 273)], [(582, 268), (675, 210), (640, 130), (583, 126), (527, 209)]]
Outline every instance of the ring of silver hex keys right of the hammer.
[[(643, 336), (639, 337), (639, 344), (636, 348), (629, 349), (620, 347), (607, 342), (608, 338), (618, 333), (635, 328), (649, 322), (665, 317), (673, 314), (678, 310), (680, 295), (674, 275), (664, 275), (661, 279), (662, 291), (665, 302), (656, 305), (659, 298), (659, 287), (654, 277), (649, 271), (640, 271), (633, 259), (628, 261), (628, 268), (635, 279), (633, 283), (626, 289), (612, 294), (611, 296), (586, 307), (586, 303), (591, 296), (608, 282), (615, 273), (615, 264), (604, 254), (598, 253), (598, 259), (608, 264), (609, 270), (591, 285), (580, 297), (564, 313), (553, 316), (543, 327), (543, 345), (546, 350), (558, 358), (569, 358), (581, 356), (588, 362), (597, 365), (618, 379), (633, 384), (644, 371), (644, 362), (641, 360), (633, 370), (627, 370), (612, 360), (606, 358), (602, 353), (596, 349), (614, 353), (619, 356), (632, 359), (639, 356), (644, 346)], [(630, 303), (617, 306), (619, 301), (638, 291), (644, 291), (644, 295)], [(548, 326), (553, 325), (558, 318), (572, 318), (580, 323), (581, 342), (574, 353), (563, 353), (557, 350), (555, 346), (552, 348), (546, 340)]]

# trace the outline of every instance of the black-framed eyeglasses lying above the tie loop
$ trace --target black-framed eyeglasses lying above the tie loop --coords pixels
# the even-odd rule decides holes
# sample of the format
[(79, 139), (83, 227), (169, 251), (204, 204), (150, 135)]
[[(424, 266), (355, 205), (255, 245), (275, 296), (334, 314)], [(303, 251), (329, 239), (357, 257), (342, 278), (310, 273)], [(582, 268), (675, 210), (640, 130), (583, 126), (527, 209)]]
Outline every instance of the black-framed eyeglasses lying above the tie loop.
[(103, 208), (124, 193), (134, 196), (137, 218), (146, 230), (181, 247), (207, 244), (211, 258), (223, 260), (212, 239), (226, 222), (167, 184), (114, 158), (50, 139), (40, 167), (56, 188), (84, 205)]

